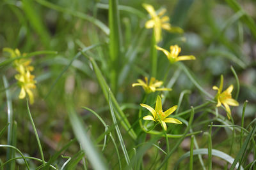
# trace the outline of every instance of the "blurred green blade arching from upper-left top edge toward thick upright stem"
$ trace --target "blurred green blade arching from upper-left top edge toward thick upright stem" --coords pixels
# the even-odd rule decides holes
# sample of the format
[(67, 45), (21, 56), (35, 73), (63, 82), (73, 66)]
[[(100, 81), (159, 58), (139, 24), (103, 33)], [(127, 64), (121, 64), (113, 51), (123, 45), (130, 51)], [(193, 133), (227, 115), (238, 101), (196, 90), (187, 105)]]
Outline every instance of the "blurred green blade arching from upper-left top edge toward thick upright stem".
[(39, 4), (42, 4), (43, 6), (46, 6), (47, 8), (51, 8), (52, 10), (68, 13), (69, 15), (73, 15), (74, 17), (78, 17), (83, 20), (87, 20), (88, 22), (92, 22), (92, 24), (99, 27), (105, 34), (107, 35), (109, 34), (109, 28), (105, 24), (103, 24), (103, 22), (101, 22), (100, 20), (97, 20), (96, 18), (90, 17), (89, 15), (86, 15), (79, 11), (73, 11), (68, 8), (63, 8), (56, 4), (50, 3), (49, 1), (45, 1), (45, 0), (35, 0), (35, 1)]

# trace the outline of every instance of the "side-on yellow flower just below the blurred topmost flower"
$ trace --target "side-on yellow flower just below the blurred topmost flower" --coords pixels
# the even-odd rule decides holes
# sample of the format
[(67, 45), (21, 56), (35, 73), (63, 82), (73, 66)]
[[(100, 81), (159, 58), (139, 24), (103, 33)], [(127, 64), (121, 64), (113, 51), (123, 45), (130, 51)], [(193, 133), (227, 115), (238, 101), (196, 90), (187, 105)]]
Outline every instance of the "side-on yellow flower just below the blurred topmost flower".
[(177, 62), (179, 60), (195, 60), (196, 59), (194, 55), (179, 56), (181, 48), (178, 45), (171, 45), (170, 52), (168, 52), (167, 50), (159, 46), (156, 46), (156, 49), (161, 50), (167, 56), (168, 60), (170, 60), (171, 63)]

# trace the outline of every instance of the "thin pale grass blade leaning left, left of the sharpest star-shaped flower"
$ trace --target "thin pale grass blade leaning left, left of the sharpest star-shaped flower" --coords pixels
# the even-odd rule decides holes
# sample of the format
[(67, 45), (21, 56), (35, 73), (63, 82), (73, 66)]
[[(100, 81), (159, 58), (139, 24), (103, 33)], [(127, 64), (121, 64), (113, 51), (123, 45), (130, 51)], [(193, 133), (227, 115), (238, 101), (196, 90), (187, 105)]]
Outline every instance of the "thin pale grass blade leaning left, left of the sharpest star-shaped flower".
[(113, 119), (113, 123), (115, 124), (116, 134), (117, 134), (117, 136), (118, 136), (118, 139), (119, 139), (119, 141), (120, 141), (120, 145), (121, 145), (122, 150), (123, 150), (123, 152), (124, 152), (124, 157), (125, 157), (126, 163), (127, 163), (127, 165), (129, 166), (129, 164), (130, 164), (130, 159), (129, 159), (129, 155), (128, 155), (128, 153), (127, 153), (127, 150), (126, 150), (126, 148), (125, 148), (125, 144), (124, 144), (124, 140), (123, 140), (123, 138), (122, 138), (122, 134), (121, 134), (121, 132), (120, 132), (120, 130), (119, 130), (119, 127), (118, 127), (118, 124), (117, 124), (117, 122), (116, 122), (116, 117), (115, 117), (115, 113), (114, 113), (113, 106), (112, 106), (112, 101), (111, 101), (111, 92), (110, 92), (110, 89), (109, 89), (109, 96), (108, 96), (108, 98), (109, 98), (110, 113), (111, 113), (111, 117), (112, 117), (112, 119)]

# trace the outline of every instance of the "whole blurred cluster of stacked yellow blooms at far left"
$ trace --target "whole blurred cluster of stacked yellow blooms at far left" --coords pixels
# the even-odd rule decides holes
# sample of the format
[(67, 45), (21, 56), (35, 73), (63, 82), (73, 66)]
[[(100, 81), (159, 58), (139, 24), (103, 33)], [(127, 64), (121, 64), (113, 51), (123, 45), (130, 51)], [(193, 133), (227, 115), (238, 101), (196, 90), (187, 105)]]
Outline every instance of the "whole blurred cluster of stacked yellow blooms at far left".
[(3, 48), (4, 52), (10, 53), (11, 58), (15, 57), (21, 57), (21, 59), (16, 59), (14, 60), (13, 64), (15, 66), (15, 69), (18, 74), (15, 75), (16, 80), (18, 80), (18, 84), (20, 85), (20, 94), (19, 98), (24, 99), (26, 97), (26, 93), (29, 96), (29, 101), (31, 104), (34, 103), (34, 96), (33, 92), (31, 92), (31, 89), (35, 89), (35, 83), (36, 81), (34, 80), (35, 76), (33, 76), (30, 72), (33, 71), (34, 67), (29, 66), (31, 63), (31, 60), (28, 59), (22, 59), (22, 57), (26, 56), (26, 53), (23, 53), (22, 55), (20, 54), (20, 51), (16, 48), (13, 50), (12, 48)]

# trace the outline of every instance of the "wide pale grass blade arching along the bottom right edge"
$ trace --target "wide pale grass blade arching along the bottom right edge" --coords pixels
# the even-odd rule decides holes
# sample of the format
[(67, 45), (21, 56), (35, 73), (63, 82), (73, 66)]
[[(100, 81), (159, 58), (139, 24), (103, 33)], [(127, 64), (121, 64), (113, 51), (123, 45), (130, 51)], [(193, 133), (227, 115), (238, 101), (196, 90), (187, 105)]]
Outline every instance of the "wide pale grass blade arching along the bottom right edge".
[[(208, 149), (207, 148), (201, 148), (201, 149), (196, 149), (193, 151), (193, 155), (207, 155), (208, 154)], [(185, 153), (184, 155), (182, 155), (180, 157), (180, 159), (176, 162), (174, 169), (178, 169), (178, 166), (180, 164), (180, 162), (182, 160), (184, 160), (185, 158), (189, 157), (190, 152)], [(230, 155), (228, 155), (227, 153), (221, 152), (220, 150), (214, 150), (212, 149), (212, 155), (214, 155), (215, 157), (220, 157), (221, 159), (226, 160), (227, 162), (229, 162), (230, 164), (232, 164), (232, 162), (234, 162), (234, 158), (230, 157)], [(238, 164), (236, 165), (236, 167), (238, 167)], [(241, 170), (243, 170), (243, 167), (241, 167)]]

